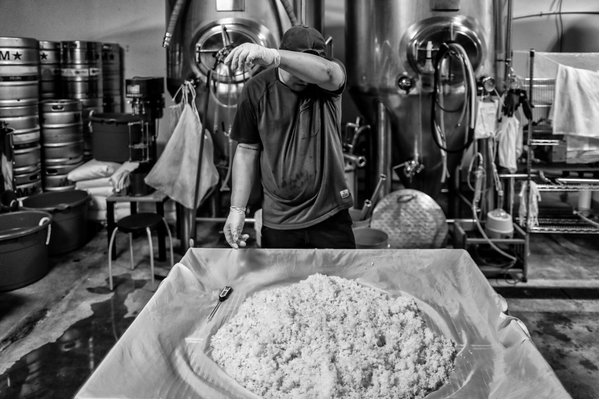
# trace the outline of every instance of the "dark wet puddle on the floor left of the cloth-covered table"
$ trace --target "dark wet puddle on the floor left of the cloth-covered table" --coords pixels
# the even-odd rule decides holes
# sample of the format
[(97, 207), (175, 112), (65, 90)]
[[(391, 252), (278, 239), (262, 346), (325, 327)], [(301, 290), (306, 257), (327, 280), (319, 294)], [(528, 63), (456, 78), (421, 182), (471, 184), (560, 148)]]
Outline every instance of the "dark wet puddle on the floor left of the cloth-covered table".
[[(72, 398), (134, 321), (125, 300), (148, 280), (114, 276), (114, 295), (92, 304), (93, 315), (71, 325), (55, 342), (20, 358), (0, 376), (0, 399)], [(108, 284), (87, 291), (109, 294)]]

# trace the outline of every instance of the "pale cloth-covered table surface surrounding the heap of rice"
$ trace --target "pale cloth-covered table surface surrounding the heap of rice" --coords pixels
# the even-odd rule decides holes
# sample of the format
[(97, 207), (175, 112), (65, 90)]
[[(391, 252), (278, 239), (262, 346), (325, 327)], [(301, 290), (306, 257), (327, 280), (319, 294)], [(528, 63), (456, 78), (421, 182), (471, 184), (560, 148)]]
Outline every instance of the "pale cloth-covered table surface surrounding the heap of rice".
[[(189, 249), (76, 398), (251, 398), (210, 358), (210, 337), (253, 292), (314, 273), (415, 299), (456, 344), (449, 383), (427, 399), (568, 399), (521, 321), (461, 249)], [(234, 292), (208, 315), (223, 286)]]

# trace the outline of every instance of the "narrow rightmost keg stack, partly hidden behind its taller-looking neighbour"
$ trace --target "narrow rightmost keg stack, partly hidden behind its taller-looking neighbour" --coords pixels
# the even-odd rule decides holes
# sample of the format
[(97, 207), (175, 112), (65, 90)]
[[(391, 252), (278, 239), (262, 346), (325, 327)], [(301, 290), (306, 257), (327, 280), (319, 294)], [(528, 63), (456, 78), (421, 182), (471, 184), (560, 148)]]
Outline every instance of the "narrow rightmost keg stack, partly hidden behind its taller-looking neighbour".
[(102, 44), (104, 112), (123, 111), (123, 64), (118, 43)]

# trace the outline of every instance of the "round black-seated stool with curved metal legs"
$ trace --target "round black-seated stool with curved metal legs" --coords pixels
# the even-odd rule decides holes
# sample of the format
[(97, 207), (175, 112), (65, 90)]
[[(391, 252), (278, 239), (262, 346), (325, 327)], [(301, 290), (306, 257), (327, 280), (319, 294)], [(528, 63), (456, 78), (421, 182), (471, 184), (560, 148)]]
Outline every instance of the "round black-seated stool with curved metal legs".
[(168, 232), (168, 239), (171, 244), (171, 265), (173, 262), (173, 236), (171, 235), (171, 230), (168, 228), (167, 219), (160, 216), (157, 213), (135, 213), (130, 216), (125, 216), (123, 219), (120, 219), (116, 223), (116, 228), (113, 230), (113, 233), (110, 237), (110, 244), (108, 244), (108, 274), (110, 275), (110, 291), (113, 291), (113, 279), (112, 279), (112, 247), (114, 243), (114, 237), (116, 237), (117, 231), (123, 231), (129, 233), (129, 252), (131, 253), (131, 270), (134, 270), (135, 263), (133, 261), (133, 233), (141, 232), (142, 230), (146, 230), (148, 236), (148, 242), (150, 244), (150, 270), (152, 272), (152, 291), (154, 291), (154, 247), (152, 246), (152, 233), (150, 232), (153, 228), (158, 228), (161, 222), (164, 222), (164, 225)]

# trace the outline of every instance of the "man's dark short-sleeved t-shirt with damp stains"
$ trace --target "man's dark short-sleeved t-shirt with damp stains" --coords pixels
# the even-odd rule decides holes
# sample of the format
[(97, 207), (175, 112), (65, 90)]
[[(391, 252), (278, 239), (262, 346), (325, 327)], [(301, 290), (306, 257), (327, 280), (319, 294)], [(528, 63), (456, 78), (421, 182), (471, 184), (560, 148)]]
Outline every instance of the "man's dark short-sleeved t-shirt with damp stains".
[[(341, 62), (330, 61), (345, 73)], [(265, 226), (305, 228), (352, 207), (341, 147), (343, 89), (308, 84), (296, 92), (279, 80), (278, 68), (256, 74), (243, 87), (231, 138), (261, 144)]]

